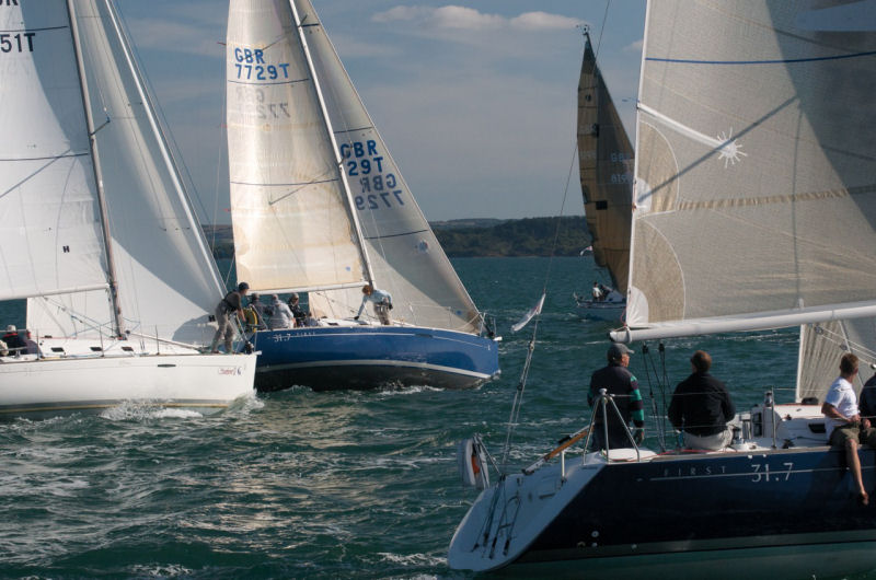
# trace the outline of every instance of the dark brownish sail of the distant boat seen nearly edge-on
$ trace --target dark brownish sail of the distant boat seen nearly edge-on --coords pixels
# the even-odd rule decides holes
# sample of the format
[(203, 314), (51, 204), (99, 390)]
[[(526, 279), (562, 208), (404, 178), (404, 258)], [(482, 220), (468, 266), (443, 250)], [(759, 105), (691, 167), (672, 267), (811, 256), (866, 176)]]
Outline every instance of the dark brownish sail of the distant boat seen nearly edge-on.
[(578, 165), (584, 213), (593, 259), (608, 268), (614, 288), (626, 293), (630, 227), (633, 221), (633, 147), (584, 34), (578, 82)]

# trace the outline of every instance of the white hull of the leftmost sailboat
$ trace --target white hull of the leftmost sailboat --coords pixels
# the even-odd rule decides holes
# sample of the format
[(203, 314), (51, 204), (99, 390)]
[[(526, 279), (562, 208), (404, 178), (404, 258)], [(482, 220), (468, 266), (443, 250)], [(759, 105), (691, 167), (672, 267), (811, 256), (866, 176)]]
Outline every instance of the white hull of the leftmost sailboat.
[(255, 355), (153, 355), (0, 364), (0, 416), (102, 409), (123, 402), (211, 410), (253, 393)]

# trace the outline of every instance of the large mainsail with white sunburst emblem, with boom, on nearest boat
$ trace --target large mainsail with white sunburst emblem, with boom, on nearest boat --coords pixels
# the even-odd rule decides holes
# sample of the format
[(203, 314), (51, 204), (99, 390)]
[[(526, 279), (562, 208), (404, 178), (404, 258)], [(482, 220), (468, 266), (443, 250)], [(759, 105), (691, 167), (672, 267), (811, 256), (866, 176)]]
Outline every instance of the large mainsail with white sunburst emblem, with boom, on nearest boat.
[(876, 314), (876, 34), (843, 4), (649, 4), (627, 323), (653, 328), (615, 338)]

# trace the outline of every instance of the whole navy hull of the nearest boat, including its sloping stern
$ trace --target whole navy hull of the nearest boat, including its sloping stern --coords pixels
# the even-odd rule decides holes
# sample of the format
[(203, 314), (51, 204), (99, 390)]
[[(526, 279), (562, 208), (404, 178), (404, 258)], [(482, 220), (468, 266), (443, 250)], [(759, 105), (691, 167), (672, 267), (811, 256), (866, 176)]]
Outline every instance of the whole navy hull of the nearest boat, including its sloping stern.
[[(861, 452), (867, 489), (876, 484), (874, 455)], [(520, 570), (618, 577), (641, 575), (644, 566), (652, 575), (656, 565), (662, 573), (699, 577), (700, 566), (710, 577), (726, 571), (736, 578), (742, 573), (736, 564), (713, 567), (741, 562), (756, 577), (777, 569), (808, 577), (876, 568), (876, 507), (856, 501), (842, 451), (728, 452), (610, 464), (588, 454), (587, 464), (575, 463), (565, 480), (552, 465), (484, 491), (453, 536), (451, 567), (489, 570), (515, 564)], [(500, 520), (512, 523), (499, 529)], [(486, 540), (485, 527), (491, 530)]]

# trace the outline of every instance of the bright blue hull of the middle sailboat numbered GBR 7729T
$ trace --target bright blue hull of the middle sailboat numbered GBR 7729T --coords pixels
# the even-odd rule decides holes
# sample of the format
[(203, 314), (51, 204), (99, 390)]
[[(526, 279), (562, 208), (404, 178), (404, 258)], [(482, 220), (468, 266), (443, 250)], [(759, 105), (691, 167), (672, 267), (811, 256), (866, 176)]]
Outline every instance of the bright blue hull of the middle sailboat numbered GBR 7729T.
[(498, 345), (437, 328), (319, 326), (262, 330), (255, 386), (315, 391), (429, 385), (466, 388), (499, 373)]

